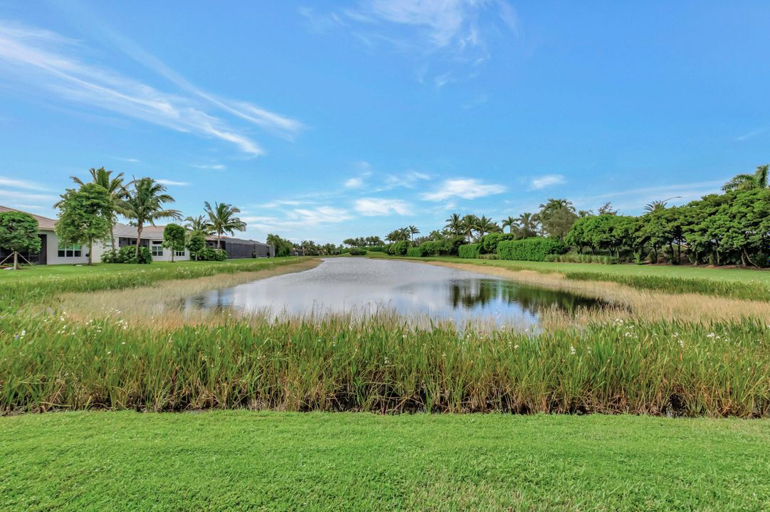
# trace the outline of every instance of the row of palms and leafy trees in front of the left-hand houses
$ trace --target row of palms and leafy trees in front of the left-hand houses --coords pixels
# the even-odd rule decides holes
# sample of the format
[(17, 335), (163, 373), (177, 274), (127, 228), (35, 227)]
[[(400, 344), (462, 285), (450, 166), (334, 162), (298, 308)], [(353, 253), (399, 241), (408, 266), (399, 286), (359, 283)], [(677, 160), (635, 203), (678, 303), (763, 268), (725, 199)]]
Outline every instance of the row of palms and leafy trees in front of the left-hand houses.
[[(91, 180), (87, 182), (72, 176), (72, 181), (77, 187), (66, 189), (62, 199), (55, 204), (59, 209), (56, 234), (59, 236), (60, 243), (88, 246), (89, 265), (92, 263), (92, 248), (96, 240), (109, 236), (112, 252), (115, 253), (114, 230), (118, 216), (126, 217), (132, 226), (136, 226), (135, 258), (139, 258), (142, 231), (148, 224), (155, 226), (155, 223), (161, 219), (182, 218), (179, 210), (168, 207), (174, 202), (174, 198), (166, 192), (166, 186), (155, 179), (145, 177), (126, 182), (122, 172), (113, 174), (104, 167), (90, 169), (89, 174)], [(246, 229), (246, 223), (236, 216), (240, 210), (235, 206), (224, 202), (215, 202), (214, 206), (205, 202), (204, 205), (202, 216), (186, 219), (186, 228), (189, 229), (186, 237), (189, 239), (192, 236), (195, 239), (194, 246), (199, 245), (201, 238), (205, 245), (205, 237), (216, 234), (217, 249), (219, 249), (223, 234), (232, 235), (236, 230)], [(184, 229), (176, 224), (169, 226)], [(174, 250), (183, 250), (184, 246), (179, 249), (178, 234), (181, 232), (176, 227), (171, 228), (166, 246), (175, 247)], [(172, 252), (172, 259), (173, 254)]]

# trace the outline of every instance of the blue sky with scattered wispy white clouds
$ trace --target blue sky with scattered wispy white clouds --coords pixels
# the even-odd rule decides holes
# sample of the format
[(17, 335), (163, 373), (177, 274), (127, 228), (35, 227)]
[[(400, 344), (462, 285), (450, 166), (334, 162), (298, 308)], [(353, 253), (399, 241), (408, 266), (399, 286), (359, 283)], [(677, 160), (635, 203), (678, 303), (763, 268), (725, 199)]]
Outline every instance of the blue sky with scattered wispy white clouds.
[(0, 204), (105, 166), (338, 243), (770, 161), (770, 3), (578, 3), (0, 1)]

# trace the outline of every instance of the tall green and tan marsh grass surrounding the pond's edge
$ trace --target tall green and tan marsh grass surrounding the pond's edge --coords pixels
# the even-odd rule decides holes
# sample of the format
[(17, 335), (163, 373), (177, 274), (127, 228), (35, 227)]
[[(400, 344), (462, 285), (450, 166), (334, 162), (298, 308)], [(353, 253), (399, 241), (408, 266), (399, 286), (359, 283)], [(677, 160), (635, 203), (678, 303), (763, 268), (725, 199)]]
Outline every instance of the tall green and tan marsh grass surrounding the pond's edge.
[[(35, 293), (3, 283), (6, 293), (18, 293), (9, 295), (0, 320), (0, 413), (246, 408), (770, 417), (767, 303), (514, 273), (541, 286), (585, 293), (593, 286), (591, 293), (625, 297), (634, 307), (618, 316), (547, 316), (551, 323), (537, 332), (417, 328), (389, 314), (267, 322), (166, 313), (141, 320), (141, 307), (133, 316), (67, 311), (77, 299), (112, 307), (108, 298), (121, 293), (140, 303), (149, 283), (183, 292), (256, 276), (243, 270), (268, 276), (316, 264), (271, 263), (80, 276)], [(230, 275), (206, 277), (221, 269)], [(88, 291), (72, 293), (79, 289)], [(62, 294), (67, 299), (59, 302)], [(730, 308), (742, 314), (725, 315)]]

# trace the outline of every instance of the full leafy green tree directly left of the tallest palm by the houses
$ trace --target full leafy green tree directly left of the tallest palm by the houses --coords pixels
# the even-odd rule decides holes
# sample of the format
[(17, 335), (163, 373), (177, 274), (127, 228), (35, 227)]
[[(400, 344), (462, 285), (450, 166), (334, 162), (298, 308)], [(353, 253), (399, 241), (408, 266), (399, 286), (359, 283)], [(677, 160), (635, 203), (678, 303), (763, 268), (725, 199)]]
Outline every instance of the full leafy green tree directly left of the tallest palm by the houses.
[(67, 189), (56, 207), (59, 209), (56, 223), (59, 243), (87, 245), (91, 265), (94, 240), (110, 235), (114, 202), (109, 192), (97, 183), (85, 183), (80, 189)]

